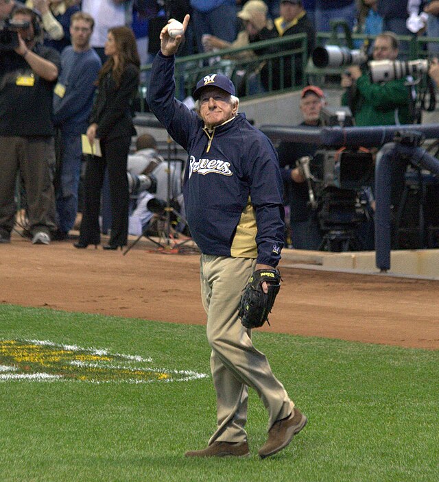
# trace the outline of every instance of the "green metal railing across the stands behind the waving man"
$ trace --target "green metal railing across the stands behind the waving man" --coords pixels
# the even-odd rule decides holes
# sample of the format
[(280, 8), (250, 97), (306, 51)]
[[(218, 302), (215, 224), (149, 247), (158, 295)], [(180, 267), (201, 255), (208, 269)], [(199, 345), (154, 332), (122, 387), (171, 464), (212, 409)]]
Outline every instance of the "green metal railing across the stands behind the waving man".
[[(343, 45), (350, 49), (356, 42), (361, 43), (367, 40), (372, 43), (375, 36), (364, 34), (351, 34), (344, 21), (331, 23), (331, 32), (319, 32), (316, 35), (316, 45)], [(401, 58), (414, 60), (418, 58), (430, 58), (427, 46), (429, 43), (438, 43), (439, 38), (397, 36), (401, 42)], [(291, 44), (298, 45), (297, 48), (290, 48)], [(289, 45), (290, 44), (290, 45)], [(272, 53), (253, 58), (241, 58), (246, 53), (258, 51), (259, 49), (270, 49)], [(286, 59), (289, 58), (289, 71), (287, 71)], [(296, 58), (300, 59), (302, 67), (302, 79), (299, 81), (296, 76)], [(254, 91), (254, 85), (261, 86), (262, 66), (264, 67), (266, 89)], [(142, 67), (143, 78), (149, 78), (152, 64)], [(238, 49), (222, 49), (209, 53), (198, 53), (193, 56), (177, 57), (175, 66), (176, 97), (182, 100), (193, 92), (196, 83), (204, 75), (209, 73), (224, 73), (230, 77), (235, 86), (239, 87), (240, 99), (257, 99), (283, 93), (286, 91), (297, 91), (307, 84), (318, 84), (321, 86), (340, 86), (340, 75), (346, 67), (318, 69), (308, 59), (307, 36), (296, 34), (262, 42), (252, 43)], [(291, 77), (291, 86), (285, 85), (285, 76)], [(279, 82), (274, 80), (278, 79)], [(140, 110), (145, 110), (145, 94), (147, 82), (143, 82), (139, 88)]]

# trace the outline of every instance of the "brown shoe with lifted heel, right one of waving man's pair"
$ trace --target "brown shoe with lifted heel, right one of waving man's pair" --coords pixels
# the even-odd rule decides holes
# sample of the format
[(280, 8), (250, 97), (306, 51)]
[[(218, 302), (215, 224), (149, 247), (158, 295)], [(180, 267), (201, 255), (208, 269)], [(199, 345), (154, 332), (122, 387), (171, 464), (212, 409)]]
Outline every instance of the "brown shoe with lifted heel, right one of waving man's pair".
[(259, 457), (265, 459), (285, 448), (296, 433), (307, 424), (307, 418), (298, 409), (293, 409), (287, 418), (274, 422), (268, 431), (268, 440), (259, 449)]

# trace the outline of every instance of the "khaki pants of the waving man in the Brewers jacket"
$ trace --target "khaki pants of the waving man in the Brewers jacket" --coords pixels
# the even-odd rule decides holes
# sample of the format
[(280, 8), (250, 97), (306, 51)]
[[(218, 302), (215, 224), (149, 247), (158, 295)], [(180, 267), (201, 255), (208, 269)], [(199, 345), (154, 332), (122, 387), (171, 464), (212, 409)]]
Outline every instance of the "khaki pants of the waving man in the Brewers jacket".
[(256, 261), (202, 254), (201, 293), (207, 313), (207, 339), (212, 348), (211, 372), (217, 393), (217, 431), (209, 440), (242, 442), (247, 439), (248, 387), (257, 391), (268, 410), (268, 429), (291, 413), (294, 403), (274, 377), (267, 358), (252, 344), (250, 330), (238, 317), (241, 291)]

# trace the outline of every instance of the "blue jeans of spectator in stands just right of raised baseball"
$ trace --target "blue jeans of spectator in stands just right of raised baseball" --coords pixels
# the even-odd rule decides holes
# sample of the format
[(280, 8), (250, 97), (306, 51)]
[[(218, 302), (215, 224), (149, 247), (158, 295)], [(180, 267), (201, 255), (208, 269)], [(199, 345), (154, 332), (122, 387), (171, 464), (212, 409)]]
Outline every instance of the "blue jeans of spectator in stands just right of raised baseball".
[(237, 36), (237, 8), (236, 5), (220, 5), (210, 12), (193, 10), (191, 21), (195, 29), (197, 49), (203, 52), (202, 34), (211, 34), (226, 42), (232, 43)]

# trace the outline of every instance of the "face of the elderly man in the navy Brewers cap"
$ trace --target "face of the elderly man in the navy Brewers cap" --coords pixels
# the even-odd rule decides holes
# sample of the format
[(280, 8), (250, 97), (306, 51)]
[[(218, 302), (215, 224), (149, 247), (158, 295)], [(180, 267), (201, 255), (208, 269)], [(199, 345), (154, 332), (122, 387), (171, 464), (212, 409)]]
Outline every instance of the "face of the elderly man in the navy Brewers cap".
[(200, 117), (208, 128), (235, 117), (238, 106), (233, 106), (230, 94), (218, 87), (206, 87), (200, 95)]

